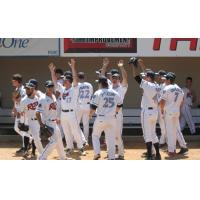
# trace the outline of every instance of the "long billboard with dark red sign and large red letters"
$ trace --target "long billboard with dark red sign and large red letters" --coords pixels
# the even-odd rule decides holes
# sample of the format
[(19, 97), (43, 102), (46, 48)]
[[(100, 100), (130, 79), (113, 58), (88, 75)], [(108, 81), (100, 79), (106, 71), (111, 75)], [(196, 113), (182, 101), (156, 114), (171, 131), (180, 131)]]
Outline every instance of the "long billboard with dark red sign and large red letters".
[(199, 57), (199, 38), (64, 38), (61, 56), (66, 57)]

